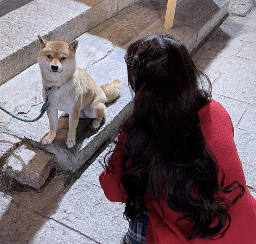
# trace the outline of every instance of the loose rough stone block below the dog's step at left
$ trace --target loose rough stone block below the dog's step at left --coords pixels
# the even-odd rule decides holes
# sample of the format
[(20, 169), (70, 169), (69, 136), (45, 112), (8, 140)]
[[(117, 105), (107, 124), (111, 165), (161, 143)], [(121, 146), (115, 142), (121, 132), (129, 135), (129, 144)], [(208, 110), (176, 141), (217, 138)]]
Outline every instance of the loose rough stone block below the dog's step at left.
[(21, 145), (6, 160), (5, 174), (22, 184), (40, 188), (53, 167), (53, 158), (40, 149)]

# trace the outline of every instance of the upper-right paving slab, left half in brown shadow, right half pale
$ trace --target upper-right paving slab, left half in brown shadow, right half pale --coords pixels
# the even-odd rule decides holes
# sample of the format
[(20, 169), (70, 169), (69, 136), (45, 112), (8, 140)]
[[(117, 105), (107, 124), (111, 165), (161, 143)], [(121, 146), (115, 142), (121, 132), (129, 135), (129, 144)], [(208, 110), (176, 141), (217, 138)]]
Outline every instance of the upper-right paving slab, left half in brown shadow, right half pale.
[(218, 28), (207, 40), (207, 43), (203, 45), (203, 48), (220, 53), (236, 55), (241, 48), (243, 49), (245, 44), (246, 43), (241, 40), (230, 38), (230, 36), (223, 32), (221, 28)]

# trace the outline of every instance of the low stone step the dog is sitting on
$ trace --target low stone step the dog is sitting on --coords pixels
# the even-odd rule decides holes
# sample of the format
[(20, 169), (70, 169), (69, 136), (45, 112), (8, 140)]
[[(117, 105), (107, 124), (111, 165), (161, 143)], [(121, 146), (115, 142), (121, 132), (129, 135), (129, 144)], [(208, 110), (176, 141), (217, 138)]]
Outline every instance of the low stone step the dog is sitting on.
[[(2, 114), (2, 126), (9, 134), (55, 154), (56, 162), (69, 170), (79, 169), (118, 129), (129, 111), (132, 97), (127, 85), (124, 48), (134, 40), (158, 33), (171, 34), (193, 52), (223, 19), (228, 4), (228, 0), (183, 0), (177, 5), (173, 28), (168, 31), (164, 29), (166, 0), (143, 0), (78, 37), (78, 66), (87, 70), (99, 85), (120, 78), (123, 88), (120, 98), (108, 105), (108, 117), (100, 129), (92, 128), (92, 120), (79, 121), (75, 147), (66, 146), (68, 118), (62, 118), (61, 113), (57, 136), (51, 145), (41, 143), (49, 131), (47, 115), (35, 123), (24, 123)], [(10, 100), (10, 91), (15, 99)], [(40, 69), (35, 64), (1, 86), (1, 103), (16, 114), (35, 118), (42, 106), (41, 91)]]

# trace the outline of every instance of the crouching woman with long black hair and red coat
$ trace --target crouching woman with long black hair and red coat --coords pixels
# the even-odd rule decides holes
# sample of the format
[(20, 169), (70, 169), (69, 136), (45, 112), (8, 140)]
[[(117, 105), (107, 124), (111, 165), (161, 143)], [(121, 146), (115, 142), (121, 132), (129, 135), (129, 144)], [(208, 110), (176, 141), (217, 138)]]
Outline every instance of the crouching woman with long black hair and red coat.
[(186, 47), (150, 36), (125, 56), (132, 111), (100, 184), (125, 202), (127, 244), (255, 244), (250, 195), (226, 110)]

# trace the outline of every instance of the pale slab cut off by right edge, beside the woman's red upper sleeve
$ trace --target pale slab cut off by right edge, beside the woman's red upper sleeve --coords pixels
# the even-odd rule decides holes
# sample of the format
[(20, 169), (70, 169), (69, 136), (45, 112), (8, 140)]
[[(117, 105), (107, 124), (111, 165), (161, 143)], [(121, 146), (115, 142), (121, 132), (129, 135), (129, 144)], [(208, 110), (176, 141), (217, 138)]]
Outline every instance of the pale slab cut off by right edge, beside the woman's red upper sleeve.
[(250, 106), (242, 117), (239, 126), (242, 130), (256, 133), (256, 107)]

